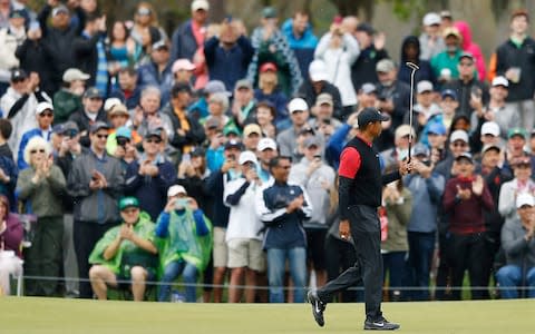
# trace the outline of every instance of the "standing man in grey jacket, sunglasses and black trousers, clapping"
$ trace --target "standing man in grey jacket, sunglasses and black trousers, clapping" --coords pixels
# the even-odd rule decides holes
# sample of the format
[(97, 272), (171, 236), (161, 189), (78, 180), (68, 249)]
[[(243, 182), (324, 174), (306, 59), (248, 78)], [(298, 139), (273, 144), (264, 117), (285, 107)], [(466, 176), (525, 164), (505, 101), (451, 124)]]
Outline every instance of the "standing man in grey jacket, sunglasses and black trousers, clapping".
[[(109, 126), (103, 121), (89, 128), (90, 149), (77, 157), (68, 175), (67, 193), (75, 199), (74, 239), (80, 278), (88, 278), (89, 254), (109, 228), (119, 222), (117, 200), (123, 195), (124, 169), (106, 153)], [(80, 298), (91, 298), (91, 286), (80, 282)]]

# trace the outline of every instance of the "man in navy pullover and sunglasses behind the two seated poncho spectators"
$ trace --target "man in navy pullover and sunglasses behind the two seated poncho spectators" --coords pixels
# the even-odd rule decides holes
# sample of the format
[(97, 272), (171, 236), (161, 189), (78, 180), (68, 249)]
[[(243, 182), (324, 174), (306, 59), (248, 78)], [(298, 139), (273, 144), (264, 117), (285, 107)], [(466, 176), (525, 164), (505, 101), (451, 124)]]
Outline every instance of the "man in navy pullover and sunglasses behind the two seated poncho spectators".
[(126, 168), (125, 194), (135, 196), (144, 212), (156, 222), (167, 200), (167, 188), (176, 180), (176, 168), (163, 153), (162, 128), (149, 129), (143, 139), (143, 154)]

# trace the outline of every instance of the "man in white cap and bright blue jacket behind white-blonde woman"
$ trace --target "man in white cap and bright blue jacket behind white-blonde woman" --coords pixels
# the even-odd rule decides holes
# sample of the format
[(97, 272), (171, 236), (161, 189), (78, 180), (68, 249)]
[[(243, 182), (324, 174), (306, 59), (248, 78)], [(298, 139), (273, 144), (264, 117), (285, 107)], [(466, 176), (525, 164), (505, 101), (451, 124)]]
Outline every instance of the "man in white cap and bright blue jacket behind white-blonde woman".
[(19, 153), (17, 158), (17, 166), (19, 170), (23, 170), (29, 167), (25, 159), (25, 150), (28, 141), (36, 137), (42, 137), (46, 141), (50, 141), (52, 135), (52, 121), (54, 121), (54, 106), (50, 102), (40, 102), (36, 108), (37, 127), (26, 131), (19, 145)]

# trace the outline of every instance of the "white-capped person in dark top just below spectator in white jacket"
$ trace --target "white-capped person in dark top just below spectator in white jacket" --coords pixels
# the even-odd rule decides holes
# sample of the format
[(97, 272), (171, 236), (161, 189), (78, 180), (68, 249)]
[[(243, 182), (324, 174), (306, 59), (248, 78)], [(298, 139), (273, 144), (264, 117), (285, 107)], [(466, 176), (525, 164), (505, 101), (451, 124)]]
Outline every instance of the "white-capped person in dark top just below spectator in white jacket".
[(331, 95), (334, 117), (341, 119), (343, 116), (343, 107), (340, 90), (337, 86), (328, 81), (325, 62), (315, 59), (309, 65), (309, 76), (308, 79), (303, 80), (301, 88), (299, 88), (299, 96), (303, 96), (309, 106), (314, 106), (318, 96), (324, 92)]

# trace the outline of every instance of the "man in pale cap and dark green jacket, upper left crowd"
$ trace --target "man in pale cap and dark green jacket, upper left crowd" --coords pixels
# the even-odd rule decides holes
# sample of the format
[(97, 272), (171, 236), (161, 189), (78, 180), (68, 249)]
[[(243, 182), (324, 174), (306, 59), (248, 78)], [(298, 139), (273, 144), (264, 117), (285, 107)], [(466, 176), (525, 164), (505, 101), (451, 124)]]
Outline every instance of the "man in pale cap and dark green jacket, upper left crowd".
[(55, 124), (66, 122), (72, 112), (82, 108), (81, 96), (90, 77), (77, 68), (64, 72), (64, 87), (54, 95)]

